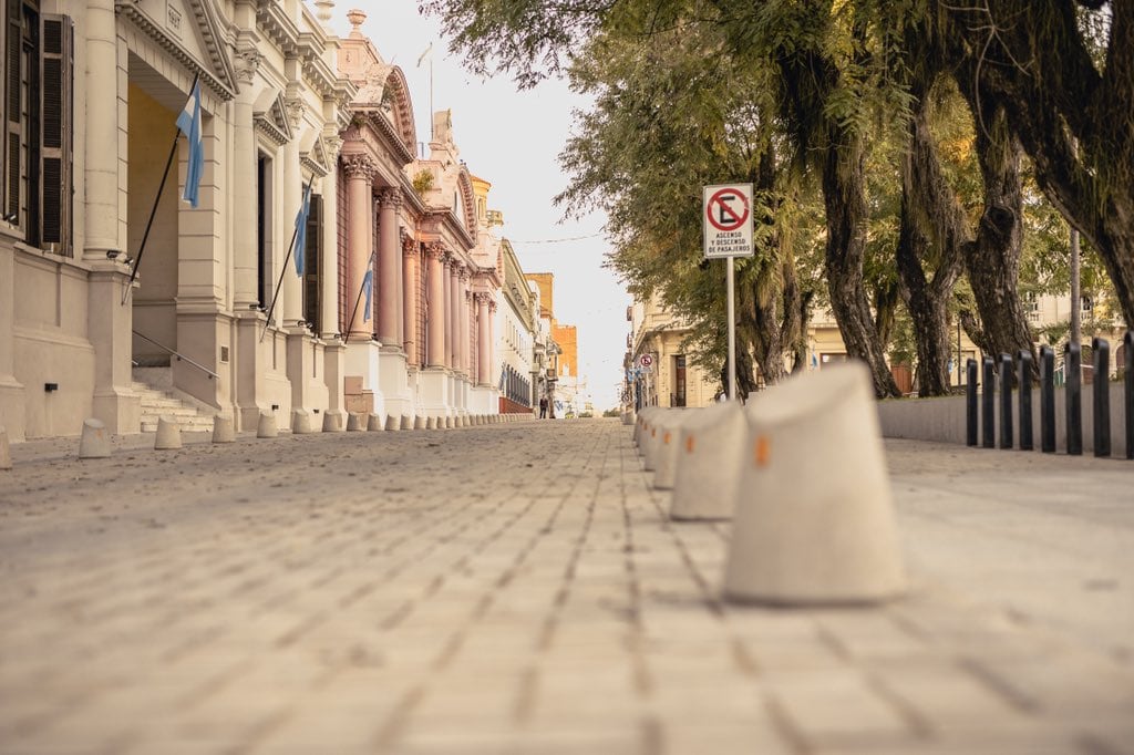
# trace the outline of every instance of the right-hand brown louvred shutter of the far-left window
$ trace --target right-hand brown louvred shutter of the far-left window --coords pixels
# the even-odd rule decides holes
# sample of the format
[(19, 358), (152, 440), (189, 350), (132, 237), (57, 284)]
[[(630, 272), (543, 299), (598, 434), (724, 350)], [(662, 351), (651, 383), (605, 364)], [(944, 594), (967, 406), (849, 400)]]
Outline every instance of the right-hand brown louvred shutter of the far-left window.
[(71, 86), (75, 32), (70, 17), (40, 20), (40, 243), (71, 254)]

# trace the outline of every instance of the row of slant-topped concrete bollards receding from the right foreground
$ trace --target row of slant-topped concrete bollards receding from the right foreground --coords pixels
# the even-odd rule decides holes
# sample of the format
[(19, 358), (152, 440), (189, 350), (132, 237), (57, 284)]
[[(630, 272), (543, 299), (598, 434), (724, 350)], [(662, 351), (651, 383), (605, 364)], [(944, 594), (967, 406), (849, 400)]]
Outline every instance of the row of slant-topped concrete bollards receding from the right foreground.
[(634, 441), (674, 520), (733, 519), (725, 596), (872, 603), (905, 591), (870, 373), (832, 365), (746, 406), (638, 413)]

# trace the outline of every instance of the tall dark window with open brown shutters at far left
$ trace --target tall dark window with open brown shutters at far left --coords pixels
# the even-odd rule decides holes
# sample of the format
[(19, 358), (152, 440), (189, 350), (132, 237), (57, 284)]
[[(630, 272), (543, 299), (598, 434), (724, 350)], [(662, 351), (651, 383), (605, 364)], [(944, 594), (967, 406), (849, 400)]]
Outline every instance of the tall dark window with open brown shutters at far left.
[(3, 0), (0, 209), (29, 246), (70, 255), (74, 27), (37, 0)]

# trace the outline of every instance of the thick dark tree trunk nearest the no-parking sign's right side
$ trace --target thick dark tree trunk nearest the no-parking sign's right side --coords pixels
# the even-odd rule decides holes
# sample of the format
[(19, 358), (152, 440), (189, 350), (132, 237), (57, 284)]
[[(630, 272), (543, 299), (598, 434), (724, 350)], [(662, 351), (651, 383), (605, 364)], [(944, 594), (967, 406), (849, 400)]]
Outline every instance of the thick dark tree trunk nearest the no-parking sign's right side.
[(831, 309), (839, 324), (847, 354), (870, 367), (874, 395), (899, 396), (886, 363), (886, 351), (871, 317), (863, 289), (863, 257), (866, 251), (866, 200), (863, 192), (864, 149), (862, 138), (832, 127), (823, 160), (823, 204), (827, 210), (824, 255)]

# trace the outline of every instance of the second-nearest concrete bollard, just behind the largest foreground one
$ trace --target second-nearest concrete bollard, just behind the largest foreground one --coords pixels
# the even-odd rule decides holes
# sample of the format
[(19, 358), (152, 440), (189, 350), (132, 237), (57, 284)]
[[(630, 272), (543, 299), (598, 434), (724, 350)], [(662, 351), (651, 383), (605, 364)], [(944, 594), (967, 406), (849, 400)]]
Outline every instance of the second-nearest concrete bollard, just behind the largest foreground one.
[(747, 419), (739, 401), (713, 404), (691, 414), (677, 436), (671, 519), (733, 517), (746, 436)]

